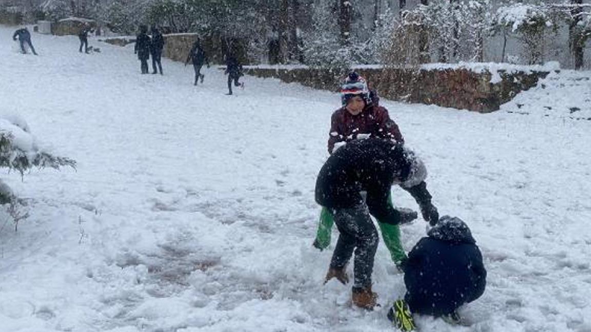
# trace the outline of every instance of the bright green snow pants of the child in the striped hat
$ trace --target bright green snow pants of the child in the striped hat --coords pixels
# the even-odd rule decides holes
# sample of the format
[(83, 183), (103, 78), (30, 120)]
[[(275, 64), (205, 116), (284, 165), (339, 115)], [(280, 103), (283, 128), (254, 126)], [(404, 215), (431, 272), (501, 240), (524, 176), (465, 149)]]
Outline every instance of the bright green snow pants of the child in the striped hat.
[[(388, 197), (389, 204), (392, 206), (392, 197)], [(314, 240), (314, 246), (323, 250), (330, 245), (330, 235), (332, 233), (332, 227), (335, 223), (332, 213), (326, 207), (322, 207), (320, 211), (320, 223), (316, 232), (316, 239)], [(398, 225), (381, 223), (378, 220), (379, 230), (382, 232), (382, 239), (388, 251), (390, 257), (394, 263), (400, 263), (402, 260), (407, 258), (404, 248), (400, 243), (400, 227)]]

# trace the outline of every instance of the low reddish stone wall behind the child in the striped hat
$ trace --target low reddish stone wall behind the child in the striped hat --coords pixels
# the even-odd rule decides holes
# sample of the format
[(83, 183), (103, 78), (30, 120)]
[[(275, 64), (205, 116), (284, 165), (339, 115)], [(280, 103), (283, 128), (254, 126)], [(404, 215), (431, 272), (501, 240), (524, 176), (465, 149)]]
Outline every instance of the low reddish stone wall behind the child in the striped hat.
[[(502, 80), (491, 83), (491, 73), (469, 69), (356, 69), (378, 91), (379, 96), (410, 103), (434, 104), (488, 113), (511, 100), (522, 90), (530, 89), (548, 71), (507, 73), (499, 70)], [(250, 67), (245, 74), (276, 77), (283, 82), (297, 82), (315, 89), (338, 91), (343, 71), (327, 69), (269, 69)]]

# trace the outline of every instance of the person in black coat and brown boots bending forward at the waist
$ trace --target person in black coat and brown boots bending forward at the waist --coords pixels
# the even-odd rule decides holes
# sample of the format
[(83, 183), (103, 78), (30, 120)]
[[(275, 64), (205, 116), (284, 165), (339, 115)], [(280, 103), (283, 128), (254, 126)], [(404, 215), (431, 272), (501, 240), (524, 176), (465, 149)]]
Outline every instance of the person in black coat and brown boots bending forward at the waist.
[[(371, 309), (377, 295), (371, 275), (378, 248), (378, 232), (371, 216), (383, 223), (399, 224), (400, 212), (388, 203), (390, 187), (402, 184), (413, 195), (427, 221), (436, 222), (423, 173), (414, 154), (389, 139), (367, 138), (349, 142), (324, 163), (316, 180), (316, 202), (330, 209), (340, 235), (326, 280), (349, 281), (346, 265), (355, 250), (353, 304)], [(426, 175), (426, 174), (425, 174)], [(366, 191), (365, 200), (361, 191)]]

